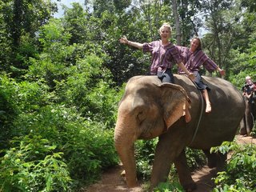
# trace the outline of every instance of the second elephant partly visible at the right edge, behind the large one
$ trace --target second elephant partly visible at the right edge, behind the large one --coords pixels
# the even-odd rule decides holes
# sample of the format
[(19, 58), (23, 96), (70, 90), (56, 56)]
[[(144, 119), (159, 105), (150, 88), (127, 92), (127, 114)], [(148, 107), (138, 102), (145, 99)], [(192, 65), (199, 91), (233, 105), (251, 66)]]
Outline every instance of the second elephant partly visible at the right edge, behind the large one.
[(250, 98), (243, 95), (246, 101), (246, 112), (240, 122), (239, 134), (249, 136), (254, 128), (256, 118), (256, 93), (251, 94)]

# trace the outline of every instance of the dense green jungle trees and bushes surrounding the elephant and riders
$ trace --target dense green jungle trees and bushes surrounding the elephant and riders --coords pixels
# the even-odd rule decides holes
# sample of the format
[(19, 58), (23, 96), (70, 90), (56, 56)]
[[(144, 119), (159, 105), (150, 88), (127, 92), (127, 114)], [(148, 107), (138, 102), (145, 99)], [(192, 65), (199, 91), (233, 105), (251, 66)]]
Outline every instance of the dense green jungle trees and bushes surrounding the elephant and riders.
[[(238, 89), (246, 75), (256, 81), (254, 0), (85, 0), (63, 8), (54, 18), (50, 0), (0, 1), (0, 191), (75, 191), (118, 164), (118, 101), (127, 80), (150, 66), (148, 54), (118, 42), (122, 35), (150, 42), (170, 22), (173, 42), (189, 46), (200, 35)], [(154, 141), (137, 147), (146, 178)], [(227, 175), (223, 189), (232, 184)], [(250, 179), (226, 191), (255, 189)]]

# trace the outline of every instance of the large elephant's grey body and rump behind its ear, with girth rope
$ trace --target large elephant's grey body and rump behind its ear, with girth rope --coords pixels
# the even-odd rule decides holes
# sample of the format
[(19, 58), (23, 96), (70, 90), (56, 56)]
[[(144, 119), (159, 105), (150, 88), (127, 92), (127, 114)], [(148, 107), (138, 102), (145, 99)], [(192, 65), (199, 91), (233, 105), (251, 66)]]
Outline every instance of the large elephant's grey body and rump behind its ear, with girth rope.
[(208, 148), (218, 146), (222, 141), (232, 141), (246, 108), (242, 93), (225, 79), (202, 76), (202, 82), (210, 88), (208, 94), (212, 106), (212, 111), (206, 114), (206, 103), (194, 82), (188, 82), (187, 77), (179, 74), (174, 75), (174, 81), (186, 90), (191, 100), (192, 121), (188, 127), (197, 133), (190, 146)]

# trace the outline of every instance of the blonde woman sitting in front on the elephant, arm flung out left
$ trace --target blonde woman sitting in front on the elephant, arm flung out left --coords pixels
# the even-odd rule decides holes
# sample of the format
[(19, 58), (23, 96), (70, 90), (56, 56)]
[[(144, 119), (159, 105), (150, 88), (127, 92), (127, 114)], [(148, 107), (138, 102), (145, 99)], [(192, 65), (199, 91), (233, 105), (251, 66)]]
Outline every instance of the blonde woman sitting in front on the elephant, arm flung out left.
[[(175, 63), (187, 74), (189, 78), (194, 80), (194, 74), (186, 70), (186, 67), (182, 63), (182, 58), (178, 54), (176, 46), (170, 42), (171, 27), (169, 23), (163, 23), (159, 29), (161, 39), (153, 42), (131, 42), (126, 37), (119, 39), (119, 42), (128, 46), (137, 47), (143, 52), (150, 52), (151, 54), (151, 65), (150, 74), (158, 75), (158, 78), (162, 82), (174, 83), (174, 75), (172, 74), (172, 66)], [(189, 80), (189, 79), (188, 79)], [(186, 107), (186, 122), (190, 122), (190, 112)]]

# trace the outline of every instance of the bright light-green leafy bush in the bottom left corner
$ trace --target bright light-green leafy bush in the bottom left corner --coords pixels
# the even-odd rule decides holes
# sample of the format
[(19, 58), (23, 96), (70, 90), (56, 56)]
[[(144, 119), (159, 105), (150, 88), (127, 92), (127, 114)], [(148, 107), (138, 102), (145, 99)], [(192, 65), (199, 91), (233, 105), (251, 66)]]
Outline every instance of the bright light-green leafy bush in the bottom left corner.
[(70, 191), (71, 178), (62, 153), (47, 139), (27, 135), (1, 160), (0, 186), (4, 191)]

